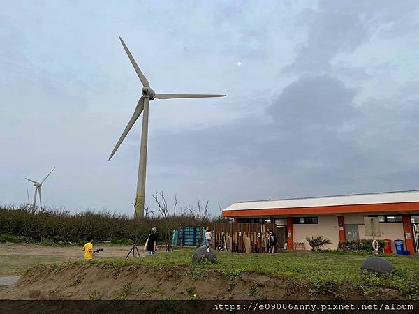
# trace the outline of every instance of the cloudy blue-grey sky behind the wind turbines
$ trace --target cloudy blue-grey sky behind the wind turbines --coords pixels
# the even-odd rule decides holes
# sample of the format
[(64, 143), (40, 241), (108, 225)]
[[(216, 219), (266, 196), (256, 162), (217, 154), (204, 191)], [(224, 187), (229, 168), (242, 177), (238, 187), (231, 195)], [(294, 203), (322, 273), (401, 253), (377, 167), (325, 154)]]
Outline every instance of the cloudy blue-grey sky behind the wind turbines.
[[(6, 1), (0, 203), (133, 214), (141, 84), (159, 93), (146, 204), (419, 189), (419, 2)], [(237, 63), (241, 62), (241, 66)]]

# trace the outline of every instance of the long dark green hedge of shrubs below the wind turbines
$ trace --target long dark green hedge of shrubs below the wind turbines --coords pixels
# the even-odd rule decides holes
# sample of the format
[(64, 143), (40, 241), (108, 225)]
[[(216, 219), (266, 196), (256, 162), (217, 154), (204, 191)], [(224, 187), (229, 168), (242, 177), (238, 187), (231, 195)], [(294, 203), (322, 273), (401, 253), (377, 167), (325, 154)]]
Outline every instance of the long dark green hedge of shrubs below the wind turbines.
[[(0, 207), (0, 242), (43, 242), (43, 244), (80, 244), (89, 235), (95, 240), (108, 240), (116, 244), (132, 244), (135, 237), (145, 243), (152, 227), (157, 228), (159, 241), (165, 244), (168, 230), (180, 226), (199, 226), (221, 218), (200, 219), (188, 207), (178, 214), (155, 216), (148, 211), (145, 218), (112, 214), (108, 211), (85, 211), (71, 214), (65, 210), (47, 209), (31, 211), (26, 207)], [(153, 215), (152, 215), (153, 214)], [(166, 236), (166, 239), (164, 239)]]

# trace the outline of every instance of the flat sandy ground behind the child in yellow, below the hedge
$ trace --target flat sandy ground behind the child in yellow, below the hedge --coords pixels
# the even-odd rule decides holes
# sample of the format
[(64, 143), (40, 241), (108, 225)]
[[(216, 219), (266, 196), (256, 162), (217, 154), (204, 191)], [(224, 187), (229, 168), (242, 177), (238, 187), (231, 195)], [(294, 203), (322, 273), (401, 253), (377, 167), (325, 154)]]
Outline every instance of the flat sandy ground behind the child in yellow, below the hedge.
[[(103, 248), (95, 253), (94, 259), (126, 257), (131, 246), (95, 245)], [(144, 255), (138, 248), (140, 255)], [(40, 246), (34, 244), (0, 244), (0, 276), (22, 275), (35, 264), (60, 263), (83, 260), (82, 246)]]

